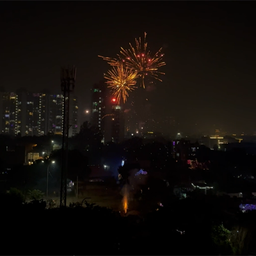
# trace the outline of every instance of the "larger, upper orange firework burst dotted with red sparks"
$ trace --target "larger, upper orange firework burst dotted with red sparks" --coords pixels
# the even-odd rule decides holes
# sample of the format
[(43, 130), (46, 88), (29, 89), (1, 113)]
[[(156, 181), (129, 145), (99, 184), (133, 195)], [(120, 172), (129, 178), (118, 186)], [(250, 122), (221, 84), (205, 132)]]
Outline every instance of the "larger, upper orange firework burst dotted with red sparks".
[(129, 44), (130, 49), (121, 47), (120, 54), (117, 54), (118, 58), (99, 56), (103, 58), (103, 60), (108, 61), (111, 66), (118, 66), (120, 63), (124, 63), (129, 70), (136, 72), (137, 76), (141, 78), (141, 86), (143, 86), (143, 88), (145, 88), (146, 76), (151, 76), (154, 77), (154, 79), (162, 81), (158, 76), (159, 74), (164, 75), (164, 73), (159, 72), (158, 69), (166, 65), (163, 61), (164, 54), (161, 54), (162, 48), (154, 55), (148, 51), (146, 36), (147, 33), (145, 33), (143, 43), (141, 42), (141, 38), (139, 38), (139, 40), (135, 38), (136, 47), (133, 47), (131, 44)]

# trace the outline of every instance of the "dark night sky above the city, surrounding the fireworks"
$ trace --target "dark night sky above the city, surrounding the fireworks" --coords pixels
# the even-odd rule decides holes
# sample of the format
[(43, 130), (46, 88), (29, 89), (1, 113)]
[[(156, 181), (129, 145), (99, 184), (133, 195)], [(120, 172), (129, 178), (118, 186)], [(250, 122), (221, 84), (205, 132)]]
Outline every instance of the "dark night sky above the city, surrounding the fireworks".
[(135, 105), (173, 116), (182, 132), (256, 131), (252, 1), (2, 1), (0, 22), (0, 86), (8, 91), (58, 92), (61, 65), (74, 64), (82, 118), (92, 84), (109, 68), (98, 55), (115, 57), (146, 31), (151, 51), (163, 47), (166, 75), (134, 92)]

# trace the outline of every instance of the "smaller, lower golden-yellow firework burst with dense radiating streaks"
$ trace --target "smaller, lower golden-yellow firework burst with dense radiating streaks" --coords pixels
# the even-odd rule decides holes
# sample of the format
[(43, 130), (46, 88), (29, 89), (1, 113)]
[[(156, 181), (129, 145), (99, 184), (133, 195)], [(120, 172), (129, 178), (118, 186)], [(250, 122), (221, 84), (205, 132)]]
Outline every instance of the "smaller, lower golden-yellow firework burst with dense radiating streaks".
[(136, 72), (132, 72), (122, 64), (113, 67), (107, 74), (104, 74), (104, 78), (107, 79), (106, 84), (111, 88), (117, 104), (120, 104), (121, 97), (125, 103), (127, 97), (129, 97), (129, 92), (136, 88), (137, 77), (138, 74)]

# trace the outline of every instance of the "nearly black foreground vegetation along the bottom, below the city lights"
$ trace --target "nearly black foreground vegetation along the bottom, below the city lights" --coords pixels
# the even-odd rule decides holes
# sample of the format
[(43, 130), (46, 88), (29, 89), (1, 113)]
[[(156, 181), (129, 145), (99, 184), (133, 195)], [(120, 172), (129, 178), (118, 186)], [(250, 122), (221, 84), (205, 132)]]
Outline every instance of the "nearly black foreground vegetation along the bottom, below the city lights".
[(248, 255), (254, 250), (255, 213), (226, 214), (220, 198), (178, 200), (127, 217), (90, 204), (45, 209), (44, 201), (24, 205), (1, 199), (3, 254)]

